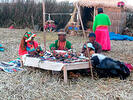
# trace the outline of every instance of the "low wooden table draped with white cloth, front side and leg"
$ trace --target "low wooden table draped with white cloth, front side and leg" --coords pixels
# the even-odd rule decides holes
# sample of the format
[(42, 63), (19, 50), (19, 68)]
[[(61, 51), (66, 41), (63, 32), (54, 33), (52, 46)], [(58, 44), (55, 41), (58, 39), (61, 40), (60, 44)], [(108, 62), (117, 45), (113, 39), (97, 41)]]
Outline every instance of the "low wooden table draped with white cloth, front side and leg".
[(25, 57), (23, 58), (23, 64), (25, 66), (41, 68), (45, 70), (63, 71), (64, 82), (67, 83), (67, 71), (89, 68), (88, 62), (76, 62), (76, 63), (60, 63), (52, 61), (40, 61), (39, 58)]

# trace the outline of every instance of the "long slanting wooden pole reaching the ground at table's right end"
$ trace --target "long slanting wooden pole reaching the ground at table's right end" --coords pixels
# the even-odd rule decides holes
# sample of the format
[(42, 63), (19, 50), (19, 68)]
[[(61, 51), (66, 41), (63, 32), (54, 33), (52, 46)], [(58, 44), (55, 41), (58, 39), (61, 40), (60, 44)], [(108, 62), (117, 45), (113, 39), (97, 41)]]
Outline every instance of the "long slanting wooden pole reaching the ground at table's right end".
[(83, 26), (83, 22), (82, 22), (82, 19), (81, 19), (81, 14), (80, 14), (80, 9), (79, 9), (77, 4), (76, 4), (76, 7), (77, 7), (77, 10), (78, 10), (78, 16), (79, 16), (79, 20), (80, 20), (81, 27), (82, 27), (82, 30), (83, 30), (84, 38), (86, 40), (85, 44), (86, 44), (87, 54), (88, 54), (88, 58), (89, 58), (88, 65), (89, 65), (89, 68), (91, 69), (91, 78), (94, 79), (91, 60), (90, 60), (90, 53), (88, 52), (89, 50), (88, 50), (88, 47), (87, 47), (87, 36), (85, 35), (85, 30), (84, 30), (84, 26)]

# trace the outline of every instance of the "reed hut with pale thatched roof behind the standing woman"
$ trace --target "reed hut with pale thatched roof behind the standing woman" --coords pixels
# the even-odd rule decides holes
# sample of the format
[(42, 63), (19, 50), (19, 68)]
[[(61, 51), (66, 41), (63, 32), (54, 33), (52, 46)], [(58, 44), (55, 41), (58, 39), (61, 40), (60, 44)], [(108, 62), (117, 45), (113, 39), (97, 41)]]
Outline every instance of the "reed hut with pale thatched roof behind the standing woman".
[[(110, 32), (115, 32), (115, 33), (121, 33), (123, 28), (126, 26), (126, 8), (128, 8), (128, 5), (125, 5), (123, 8), (118, 7), (117, 4), (121, 0), (78, 0), (75, 2), (75, 5), (78, 5), (80, 8), (80, 13), (82, 17), (82, 8), (87, 7), (87, 8), (94, 8), (93, 12), (93, 21), (95, 19), (95, 15), (97, 15), (97, 8), (103, 8), (104, 13), (106, 13), (110, 20), (112, 25), (109, 26), (109, 31)], [(75, 12), (74, 12), (75, 14)], [(71, 17), (72, 18), (75, 17)], [(73, 19), (74, 20), (74, 19)], [(93, 23), (92, 21), (92, 23)]]

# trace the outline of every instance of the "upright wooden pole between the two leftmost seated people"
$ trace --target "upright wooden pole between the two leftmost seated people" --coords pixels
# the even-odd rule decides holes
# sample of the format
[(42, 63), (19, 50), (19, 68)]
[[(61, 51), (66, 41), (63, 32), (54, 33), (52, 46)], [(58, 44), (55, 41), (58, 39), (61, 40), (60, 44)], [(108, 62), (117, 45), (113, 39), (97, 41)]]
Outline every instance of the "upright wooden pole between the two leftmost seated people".
[(44, 33), (44, 51), (46, 51), (46, 31), (45, 31), (45, 2), (42, 1), (42, 7), (43, 7), (43, 33)]

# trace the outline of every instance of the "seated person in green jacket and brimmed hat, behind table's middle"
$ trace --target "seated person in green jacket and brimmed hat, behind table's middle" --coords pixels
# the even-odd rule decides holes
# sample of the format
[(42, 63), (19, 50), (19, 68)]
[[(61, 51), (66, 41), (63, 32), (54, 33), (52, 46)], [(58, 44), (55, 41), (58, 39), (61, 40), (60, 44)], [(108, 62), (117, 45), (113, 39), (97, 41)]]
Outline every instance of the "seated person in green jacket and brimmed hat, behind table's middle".
[(56, 40), (55, 43), (52, 43), (49, 48), (50, 50), (69, 50), (72, 49), (72, 44), (66, 40), (65, 32), (59, 32), (58, 40)]

